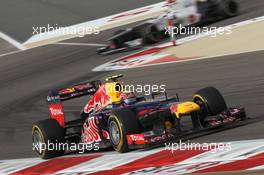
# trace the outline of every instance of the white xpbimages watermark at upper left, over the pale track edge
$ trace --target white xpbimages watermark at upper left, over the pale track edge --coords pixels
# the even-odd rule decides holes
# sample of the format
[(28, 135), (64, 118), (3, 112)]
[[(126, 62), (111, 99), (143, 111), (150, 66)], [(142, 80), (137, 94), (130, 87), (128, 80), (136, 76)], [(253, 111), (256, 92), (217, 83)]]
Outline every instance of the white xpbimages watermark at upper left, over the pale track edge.
[(98, 26), (70, 26), (62, 27), (58, 24), (47, 26), (34, 26), (33, 35), (44, 35), (44, 34), (60, 34), (60, 35), (77, 35), (78, 37), (84, 37), (85, 35), (98, 35), (100, 28)]

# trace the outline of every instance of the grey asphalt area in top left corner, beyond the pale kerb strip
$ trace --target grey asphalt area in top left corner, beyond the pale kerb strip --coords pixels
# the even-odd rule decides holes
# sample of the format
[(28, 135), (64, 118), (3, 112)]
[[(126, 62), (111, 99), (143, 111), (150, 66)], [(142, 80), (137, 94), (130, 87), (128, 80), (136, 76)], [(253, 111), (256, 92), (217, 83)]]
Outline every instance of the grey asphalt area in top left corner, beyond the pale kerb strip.
[(25, 41), (32, 27), (69, 26), (160, 2), (160, 0), (1, 0), (0, 31)]

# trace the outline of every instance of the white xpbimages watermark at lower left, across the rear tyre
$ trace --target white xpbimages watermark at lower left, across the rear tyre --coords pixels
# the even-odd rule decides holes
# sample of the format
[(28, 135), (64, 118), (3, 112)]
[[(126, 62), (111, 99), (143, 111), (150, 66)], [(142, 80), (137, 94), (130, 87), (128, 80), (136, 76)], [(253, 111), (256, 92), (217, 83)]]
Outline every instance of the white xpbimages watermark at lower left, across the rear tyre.
[(33, 151), (39, 153), (48, 150), (48, 151), (74, 151), (79, 154), (85, 153), (87, 151), (98, 151), (98, 143), (62, 143), (62, 142), (50, 142), (47, 143), (32, 143)]

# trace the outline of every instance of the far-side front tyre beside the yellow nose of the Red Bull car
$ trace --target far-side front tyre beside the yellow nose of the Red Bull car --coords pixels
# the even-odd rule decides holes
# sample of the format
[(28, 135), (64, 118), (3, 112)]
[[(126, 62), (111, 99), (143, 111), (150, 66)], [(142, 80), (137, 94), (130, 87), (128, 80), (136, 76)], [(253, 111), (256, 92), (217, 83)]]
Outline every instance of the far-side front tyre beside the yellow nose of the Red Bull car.
[(193, 101), (200, 105), (205, 116), (214, 116), (227, 109), (224, 97), (214, 87), (207, 87), (197, 91)]

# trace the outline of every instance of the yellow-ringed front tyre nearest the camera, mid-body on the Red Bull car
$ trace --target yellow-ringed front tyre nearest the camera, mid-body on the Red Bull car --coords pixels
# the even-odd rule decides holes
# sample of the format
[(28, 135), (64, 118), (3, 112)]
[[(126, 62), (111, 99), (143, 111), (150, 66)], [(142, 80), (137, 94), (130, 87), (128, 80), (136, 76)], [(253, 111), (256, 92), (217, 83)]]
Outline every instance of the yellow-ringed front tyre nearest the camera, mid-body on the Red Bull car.
[(136, 114), (130, 109), (121, 109), (110, 115), (108, 131), (113, 148), (125, 153), (129, 151), (126, 135), (140, 133), (141, 129)]

